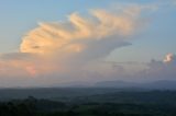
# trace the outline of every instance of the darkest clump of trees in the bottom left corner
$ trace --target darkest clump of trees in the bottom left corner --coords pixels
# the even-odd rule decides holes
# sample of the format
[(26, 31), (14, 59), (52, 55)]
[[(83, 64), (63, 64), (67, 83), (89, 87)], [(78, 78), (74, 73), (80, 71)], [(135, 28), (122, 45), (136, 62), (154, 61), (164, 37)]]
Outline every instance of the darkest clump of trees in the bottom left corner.
[(62, 102), (36, 100), (33, 96), (29, 96), (25, 100), (1, 102), (0, 116), (43, 116), (42, 114), (45, 113), (52, 113), (57, 109), (62, 111), (64, 106), (65, 103)]

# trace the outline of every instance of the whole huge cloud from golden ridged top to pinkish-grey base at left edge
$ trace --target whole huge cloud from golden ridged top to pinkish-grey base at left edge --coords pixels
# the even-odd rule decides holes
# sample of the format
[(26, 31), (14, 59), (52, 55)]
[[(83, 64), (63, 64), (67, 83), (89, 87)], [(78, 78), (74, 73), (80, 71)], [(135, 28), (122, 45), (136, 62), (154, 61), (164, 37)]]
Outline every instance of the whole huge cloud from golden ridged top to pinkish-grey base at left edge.
[[(98, 60), (131, 45), (129, 39), (143, 28), (145, 21), (140, 15), (144, 9), (119, 10), (91, 10), (87, 16), (73, 13), (67, 21), (40, 23), (22, 38), (19, 53), (1, 55), (0, 77), (34, 77), (35, 84), (101, 77), (102, 71), (114, 77), (123, 69), (112, 71), (106, 65), (102, 68)], [(95, 67), (99, 69), (92, 70)]]

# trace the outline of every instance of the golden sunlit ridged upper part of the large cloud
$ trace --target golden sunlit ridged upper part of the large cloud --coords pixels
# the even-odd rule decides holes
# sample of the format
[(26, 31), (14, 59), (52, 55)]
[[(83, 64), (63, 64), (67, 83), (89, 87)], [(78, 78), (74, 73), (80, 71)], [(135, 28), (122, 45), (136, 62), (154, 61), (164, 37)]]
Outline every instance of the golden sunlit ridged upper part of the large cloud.
[(138, 19), (125, 13), (94, 10), (91, 14), (86, 19), (73, 13), (66, 22), (40, 23), (22, 39), (20, 50), (34, 54), (79, 53), (89, 47), (86, 42), (94, 44), (110, 36), (123, 40), (123, 36), (133, 33), (139, 23)]

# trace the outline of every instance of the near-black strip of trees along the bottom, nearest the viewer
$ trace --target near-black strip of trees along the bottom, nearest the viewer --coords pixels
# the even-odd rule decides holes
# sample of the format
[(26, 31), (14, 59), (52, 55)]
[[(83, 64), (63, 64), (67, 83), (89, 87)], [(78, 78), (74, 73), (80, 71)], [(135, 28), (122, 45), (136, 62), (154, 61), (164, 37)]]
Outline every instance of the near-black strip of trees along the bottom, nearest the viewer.
[(0, 116), (176, 116), (174, 105), (128, 103), (63, 103), (12, 100), (0, 103)]

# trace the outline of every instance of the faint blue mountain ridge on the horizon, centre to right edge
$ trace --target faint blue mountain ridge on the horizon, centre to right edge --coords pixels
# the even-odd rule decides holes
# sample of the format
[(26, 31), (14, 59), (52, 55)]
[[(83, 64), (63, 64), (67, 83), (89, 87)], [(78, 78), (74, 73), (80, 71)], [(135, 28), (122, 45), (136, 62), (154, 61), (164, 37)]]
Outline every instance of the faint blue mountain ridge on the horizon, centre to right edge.
[(128, 81), (100, 81), (91, 82), (68, 82), (57, 84), (57, 88), (114, 88), (114, 89), (150, 89), (150, 90), (176, 90), (176, 80), (158, 80), (151, 82), (128, 82)]

